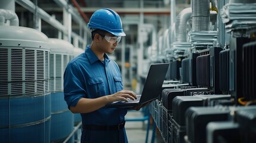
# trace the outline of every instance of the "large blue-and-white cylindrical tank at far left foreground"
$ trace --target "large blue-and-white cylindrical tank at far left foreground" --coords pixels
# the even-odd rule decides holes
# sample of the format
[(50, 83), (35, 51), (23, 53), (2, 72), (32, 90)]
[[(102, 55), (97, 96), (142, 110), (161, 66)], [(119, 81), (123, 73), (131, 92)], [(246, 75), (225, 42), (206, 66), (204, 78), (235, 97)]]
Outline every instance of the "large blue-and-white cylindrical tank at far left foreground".
[(48, 38), (0, 26), (0, 142), (50, 142)]

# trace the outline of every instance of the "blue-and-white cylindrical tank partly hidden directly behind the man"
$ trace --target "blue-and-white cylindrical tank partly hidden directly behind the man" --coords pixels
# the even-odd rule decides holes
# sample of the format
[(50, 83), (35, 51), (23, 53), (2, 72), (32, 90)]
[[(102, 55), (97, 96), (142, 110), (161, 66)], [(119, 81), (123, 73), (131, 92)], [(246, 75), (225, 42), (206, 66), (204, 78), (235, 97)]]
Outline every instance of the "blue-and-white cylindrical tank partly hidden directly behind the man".
[(51, 142), (63, 142), (72, 132), (73, 113), (67, 108), (63, 94), (63, 74), (73, 58), (73, 45), (62, 39), (49, 38), (51, 90)]

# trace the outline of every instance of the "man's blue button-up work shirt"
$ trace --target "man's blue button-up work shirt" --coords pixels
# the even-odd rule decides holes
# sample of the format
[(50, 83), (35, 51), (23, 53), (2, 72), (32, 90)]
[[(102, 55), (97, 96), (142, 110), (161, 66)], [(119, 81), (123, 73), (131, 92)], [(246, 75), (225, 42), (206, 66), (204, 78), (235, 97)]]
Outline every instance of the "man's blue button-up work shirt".
[[(64, 72), (64, 99), (68, 107), (75, 107), (81, 98), (103, 97), (115, 94), (123, 88), (118, 64), (107, 54), (104, 54), (104, 61), (100, 61), (92, 52), (90, 45), (87, 46), (84, 53), (67, 64)], [(125, 108), (102, 107), (91, 113), (81, 114), (82, 124), (118, 125), (124, 122), (125, 114), (127, 114)]]

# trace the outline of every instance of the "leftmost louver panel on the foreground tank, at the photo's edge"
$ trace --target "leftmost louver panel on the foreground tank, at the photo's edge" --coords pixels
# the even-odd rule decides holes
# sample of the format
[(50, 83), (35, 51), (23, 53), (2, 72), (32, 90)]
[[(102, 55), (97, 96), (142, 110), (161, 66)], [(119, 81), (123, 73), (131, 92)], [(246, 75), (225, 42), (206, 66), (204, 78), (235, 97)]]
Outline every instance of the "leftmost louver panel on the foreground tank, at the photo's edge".
[(0, 91), (8, 95), (8, 49), (0, 49)]

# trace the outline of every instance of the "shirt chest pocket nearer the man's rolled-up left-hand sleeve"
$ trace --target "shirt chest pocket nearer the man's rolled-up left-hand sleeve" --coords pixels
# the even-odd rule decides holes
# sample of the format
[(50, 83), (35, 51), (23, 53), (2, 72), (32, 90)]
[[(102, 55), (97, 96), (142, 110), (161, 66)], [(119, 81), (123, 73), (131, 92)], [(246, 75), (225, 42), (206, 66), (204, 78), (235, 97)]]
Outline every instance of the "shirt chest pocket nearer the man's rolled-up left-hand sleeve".
[(97, 97), (102, 97), (105, 94), (105, 88), (104, 88), (104, 83), (103, 83), (103, 77), (98, 76), (98, 77), (91, 77), (88, 80), (88, 83), (90, 85), (90, 97), (95, 98), (95, 95)]

